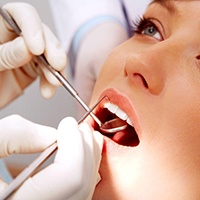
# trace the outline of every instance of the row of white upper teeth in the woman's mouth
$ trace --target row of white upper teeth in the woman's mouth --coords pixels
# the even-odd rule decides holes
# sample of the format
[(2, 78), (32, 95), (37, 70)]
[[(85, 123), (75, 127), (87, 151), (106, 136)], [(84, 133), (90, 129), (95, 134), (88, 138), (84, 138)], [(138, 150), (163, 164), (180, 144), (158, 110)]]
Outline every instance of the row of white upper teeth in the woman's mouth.
[(111, 113), (117, 115), (120, 119), (126, 121), (129, 125), (133, 126), (128, 115), (123, 110), (121, 110), (117, 105), (108, 102), (105, 104), (104, 107), (107, 108)]

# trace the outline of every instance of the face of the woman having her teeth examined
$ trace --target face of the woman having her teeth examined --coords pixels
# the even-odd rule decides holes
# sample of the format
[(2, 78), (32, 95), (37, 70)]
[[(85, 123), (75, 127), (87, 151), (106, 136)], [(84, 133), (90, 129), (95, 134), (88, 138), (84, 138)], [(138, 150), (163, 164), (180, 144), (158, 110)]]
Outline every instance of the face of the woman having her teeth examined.
[(167, 2), (149, 6), (96, 83), (91, 104), (108, 96), (135, 130), (105, 136), (95, 200), (200, 198), (200, 1)]

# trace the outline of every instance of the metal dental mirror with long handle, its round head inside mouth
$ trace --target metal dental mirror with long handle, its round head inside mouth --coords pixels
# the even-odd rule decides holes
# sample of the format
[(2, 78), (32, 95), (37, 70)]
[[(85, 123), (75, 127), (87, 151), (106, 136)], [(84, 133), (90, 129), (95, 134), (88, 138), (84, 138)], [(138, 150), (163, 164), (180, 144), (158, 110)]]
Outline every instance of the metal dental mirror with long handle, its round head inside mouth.
[[(16, 34), (20, 35), (21, 30), (15, 20), (10, 16), (10, 14), (4, 11), (0, 7), (0, 14), (6, 20), (6, 22), (13, 28)], [(60, 83), (68, 90), (68, 92), (80, 103), (80, 105), (87, 111), (90, 111), (90, 108), (84, 103), (84, 101), (80, 98), (77, 91), (72, 87), (72, 85), (67, 81), (67, 79), (58, 71), (56, 71), (51, 65), (49, 65), (46, 60), (44, 54), (37, 56), (40, 61), (44, 64), (44, 66), (60, 81)], [(117, 131), (122, 131), (127, 128), (127, 123), (119, 118), (115, 118), (111, 121), (107, 121), (103, 124), (94, 113), (90, 113), (90, 116), (95, 120), (95, 122), (99, 125), (99, 128), (104, 133), (116, 133)]]

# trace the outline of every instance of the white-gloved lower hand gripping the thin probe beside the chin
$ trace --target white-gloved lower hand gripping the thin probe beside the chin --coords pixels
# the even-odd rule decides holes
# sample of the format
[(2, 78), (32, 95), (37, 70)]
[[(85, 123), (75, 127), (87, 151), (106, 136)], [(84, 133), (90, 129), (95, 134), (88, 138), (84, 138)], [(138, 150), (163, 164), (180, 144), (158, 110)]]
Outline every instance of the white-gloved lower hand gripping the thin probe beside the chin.
[[(38, 125), (34, 126), (39, 127)], [(14, 139), (18, 138), (19, 132), (15, 132), (15, 136), (11, 138), (6, 134), (4, 141), (14, 138), (12, 146), (10, 146), (11, 143), (8, 143), (9, 147), (6, 149), (12, 148), (12, 152), (23, 153), (41, 149), (41, 147), (45, 148), (53, 141), (53, 137), (52, 139), (50, 137), (49, 140), (45, 138), (48, 135), (45, 135), (47, 131), (46, 128), (35, 137), (36, 131), (30, 130), (30, 134), (27, 134), (29, 133), (27, 131), (27, 135), (23, 135), (23, 141), (26, 140), (27, 144), (23, 142), (18, 145), (14, 143)], [(33, 139), (30, 140), (30, 137)], [(44, 141), (42, 142), (42, 140)], [(102, 135), (91, 130), (86, 123), (78, 125), (73, 118), (65, 118), (58, 127), (57, 143), (58, 151), (54, 163), (26, 180), (12, 195), (12, 200), (89, 200), (92, 198), (94, 188), (99, 181), (98, 169), (103, 145)], [(36, 144), (37, 147), (34, 147)], [(1, 153), (7, 155), (2, 150)]]

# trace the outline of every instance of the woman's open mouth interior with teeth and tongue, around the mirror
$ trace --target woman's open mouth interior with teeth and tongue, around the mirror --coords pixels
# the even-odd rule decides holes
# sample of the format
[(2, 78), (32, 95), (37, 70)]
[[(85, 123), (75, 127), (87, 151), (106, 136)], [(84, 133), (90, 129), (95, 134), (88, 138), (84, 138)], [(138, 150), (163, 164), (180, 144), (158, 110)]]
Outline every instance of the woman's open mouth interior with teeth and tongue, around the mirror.
[(122, 111), (117, 105), (112, 103), (106, 103), (103, 108), (98, 108), (95, 115), (101, 120), (102, 123), (108, 122), (109, 120), (120, 118), (127, 123), (127, 127), (124, 130), (117, 131), (116, 133), (105, 133), (100, 130), (98, 125), (95, 125), (95, 130), (101, 132), (104, 136), (110, 138), (119, 145), (135, 147), (138, 146), (140, 141), (138, 134), (132, 125), (127, 114)]

